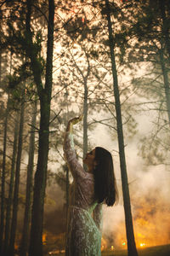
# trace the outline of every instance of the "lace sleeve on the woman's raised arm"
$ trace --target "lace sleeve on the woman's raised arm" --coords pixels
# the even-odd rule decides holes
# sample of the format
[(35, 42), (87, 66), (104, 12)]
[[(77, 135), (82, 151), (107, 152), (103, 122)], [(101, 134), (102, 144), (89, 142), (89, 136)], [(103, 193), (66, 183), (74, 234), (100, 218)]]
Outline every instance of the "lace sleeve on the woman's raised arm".
[(73, 135), (71, 132), (65, 132), (65, 140), (63, 145), (63, 150), (65, 153), (65, 160), (69, 166), (72, 176), (77, 179), (77, 177), (85, 177), (85, 171), (82, 165), (77, 160), (77, 155), (74, 148)]

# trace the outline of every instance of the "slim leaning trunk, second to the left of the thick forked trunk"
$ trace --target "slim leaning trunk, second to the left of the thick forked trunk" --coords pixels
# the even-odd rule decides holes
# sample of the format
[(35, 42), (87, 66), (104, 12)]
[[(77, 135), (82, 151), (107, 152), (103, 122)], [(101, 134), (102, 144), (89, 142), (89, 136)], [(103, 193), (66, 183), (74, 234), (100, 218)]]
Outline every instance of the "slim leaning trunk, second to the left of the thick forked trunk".
[(25, 111), (25, 86), (22, 89), (22, 99), (20, 108), (20, 131), (19, 131), (19, 142), (18, 142), (18, 153), (16, 159), (16, 170), (15, 170), (15, 181), (14, 181), (14, 201), (13, 201), (13, 216), (10, 231), (10, 241), (8, 248), (8, 255), (14, 256), (14, 241), (16, 236), (17, 227), (17, 213), (18, 213), (18, 203), (19, 203), (19, 185), (20, 185), (20, 161), (22, 154), (22, 137), (23, 137), (23, 127), (24, 127), (24, 111)]

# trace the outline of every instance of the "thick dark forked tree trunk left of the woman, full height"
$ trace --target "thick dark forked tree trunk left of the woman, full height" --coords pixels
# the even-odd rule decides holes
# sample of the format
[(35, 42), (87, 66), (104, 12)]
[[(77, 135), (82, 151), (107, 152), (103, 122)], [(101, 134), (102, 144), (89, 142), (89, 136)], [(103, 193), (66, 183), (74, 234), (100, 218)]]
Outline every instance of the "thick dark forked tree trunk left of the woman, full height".
[[(31, 1), (27, 1), (26, 29), (31, 39)], [(40, 131), (38, 145), (37, 171), (34, 180), (34, 194), (31, 215), (31, 241), (29, 256), (42, 256), (42, 224), (43, 206), (45, 189), (47, 182), (48, 165), (48, 137), (49, 137), (49, 118), (52, 90), (52, 71), (53, 71), (53, 46), (54, 46), (54, 0), (48, 0), (48, 46), (46, 61), (45, 87), (42, 87), (41, 75), (37, 73), (39, 63), (31, 50), (28, 54), (31, 58), (31, 68), (34, 80), (37, 84), (38, 96), (40, 99)], [(40, 73), (41, 74), (41, 73)]]

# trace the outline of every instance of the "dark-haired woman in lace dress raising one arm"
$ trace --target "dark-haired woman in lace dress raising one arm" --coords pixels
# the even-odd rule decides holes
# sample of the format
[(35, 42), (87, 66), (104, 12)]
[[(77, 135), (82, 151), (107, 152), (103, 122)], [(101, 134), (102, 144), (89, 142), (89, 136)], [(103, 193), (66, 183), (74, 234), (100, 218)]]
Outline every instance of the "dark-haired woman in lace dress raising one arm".
[(105, 148), (94, 148), (83, 163), (77, 161), (72, 130), (82, 117), (71, 119), (64, 142), (65, 160), (73, 176), (71, 206), (69, 207), (66, 256), (101, 255), (102, 203), (113, 206), (116, 201), (116, 179), (111, 153)]

